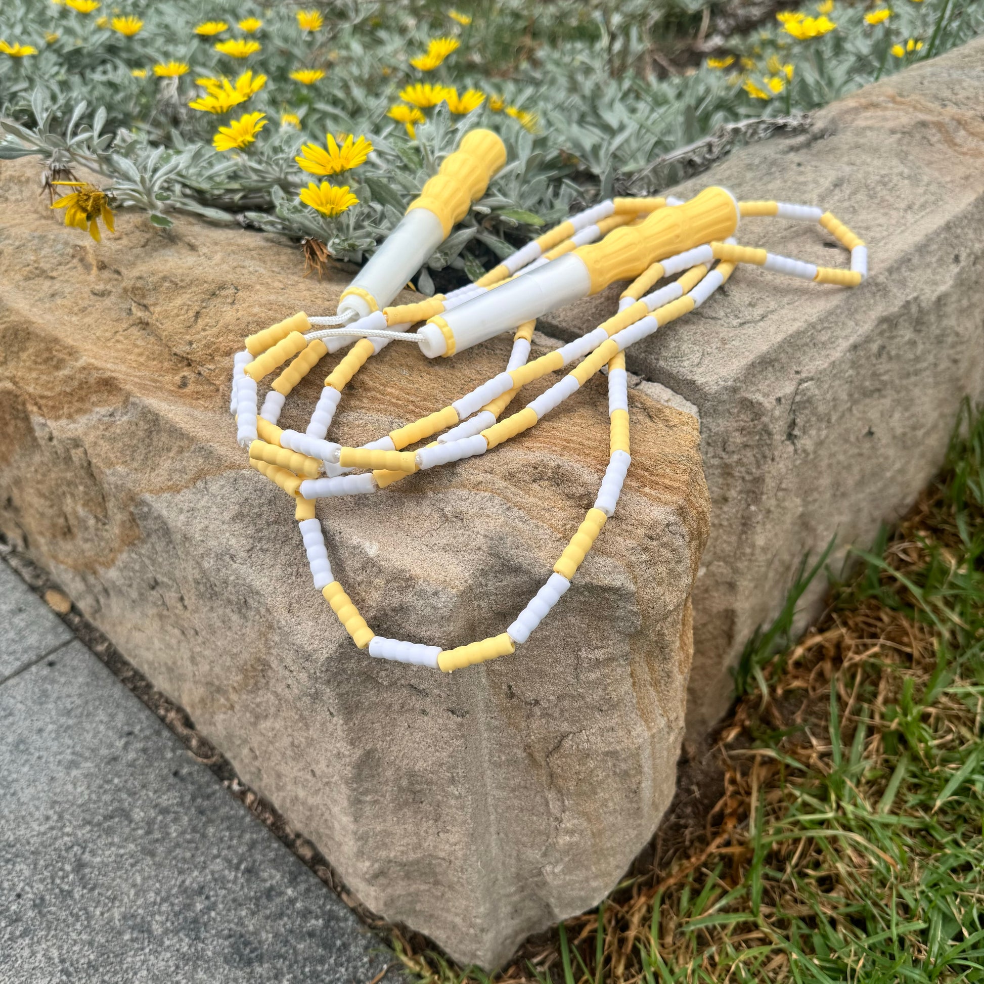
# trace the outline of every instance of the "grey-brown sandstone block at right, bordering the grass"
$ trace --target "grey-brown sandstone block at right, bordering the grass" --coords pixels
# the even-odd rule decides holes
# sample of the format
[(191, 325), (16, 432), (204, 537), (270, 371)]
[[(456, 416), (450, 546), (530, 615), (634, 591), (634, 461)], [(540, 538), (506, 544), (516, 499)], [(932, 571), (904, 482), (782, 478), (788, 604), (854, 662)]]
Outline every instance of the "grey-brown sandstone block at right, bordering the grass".
[[(688, 729), (727, 707), (729, 667), (781, 606), (805, 551), (867, 546), (943, 461), (960, 400), (984, 396), (984, 39), (831, 105), (805, 137), (734, 154), (676, 191), (830, 209), (869, 246), (844, 290), (742, 268), (693, 315), (627, 353), (695, 403), (712, 510), (694, 589)], [(818, 226), (747, 219), (739, 241), (846, 266)], [(619, 288), (557, 312), (559, 338)], [(822, 580), (822, 579), (821, 579)], [(815, 585), (804, 611), (816, 610)]]

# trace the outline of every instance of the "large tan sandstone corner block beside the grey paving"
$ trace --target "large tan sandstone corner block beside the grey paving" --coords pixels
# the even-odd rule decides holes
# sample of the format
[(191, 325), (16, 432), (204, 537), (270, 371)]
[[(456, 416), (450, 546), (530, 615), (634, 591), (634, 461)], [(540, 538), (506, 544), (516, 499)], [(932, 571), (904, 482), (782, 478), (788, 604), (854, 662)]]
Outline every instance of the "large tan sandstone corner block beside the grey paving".
[[(243, 335), (334, 310), (344, 279), (191, 220), (123, 214), (94, 246), (47, 214), (30, 160), (0, 165), (0, 200), (0, 529), (381, 915), (491, 966), (610, 890), (673, 795), (708, 529), (694, 417), (633, 391), (619, 514), (515, 656), (451, 676), (373, 660), (312, 588), (292, 506), (244, 467), (227, 412)], [(391, 345), (335, 434), (434, 410), (509, 347), (428, 363)], [(323, 373), (284, 426), (303, 428)], [(597, 379), (481, 459), (323, 502), (338, 580), (381, 635), (500, 633), (607, 457)]]

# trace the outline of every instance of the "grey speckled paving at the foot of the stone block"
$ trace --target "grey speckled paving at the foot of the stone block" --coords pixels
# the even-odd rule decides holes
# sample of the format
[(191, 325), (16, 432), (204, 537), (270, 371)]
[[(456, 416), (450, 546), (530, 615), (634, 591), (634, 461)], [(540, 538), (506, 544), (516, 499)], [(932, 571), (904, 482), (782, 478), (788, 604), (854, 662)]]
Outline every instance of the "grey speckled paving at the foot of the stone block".
[(3, 561), (0, 954), (2, 984), (368, 984), (395, 960)]

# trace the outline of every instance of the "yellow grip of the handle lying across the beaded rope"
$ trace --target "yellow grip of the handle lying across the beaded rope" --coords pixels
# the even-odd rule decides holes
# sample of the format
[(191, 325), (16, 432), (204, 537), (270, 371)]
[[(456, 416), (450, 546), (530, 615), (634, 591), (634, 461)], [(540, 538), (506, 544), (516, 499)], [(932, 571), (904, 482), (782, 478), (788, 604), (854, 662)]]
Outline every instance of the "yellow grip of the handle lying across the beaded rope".
[(615, 280), (638, 277), (650, 264), (712, 239), (726, 239), (738, 228), (738, 206), (723, 188), (705, 188), (683, 205), (659, 209), (639, 225), (624, 225), (601, 242), (580, 246), (591, 276), (592, 294)]

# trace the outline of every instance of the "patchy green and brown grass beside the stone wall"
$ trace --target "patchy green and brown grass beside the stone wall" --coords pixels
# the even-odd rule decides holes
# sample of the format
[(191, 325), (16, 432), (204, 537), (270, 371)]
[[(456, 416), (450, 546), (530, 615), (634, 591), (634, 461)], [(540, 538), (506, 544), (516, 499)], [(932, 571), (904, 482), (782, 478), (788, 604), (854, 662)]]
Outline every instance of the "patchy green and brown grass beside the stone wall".
[(746, 649), (706, 822), (488, 976), (399, 933), (420, 979), (984, 981), (984, 407), (795, 645)]

